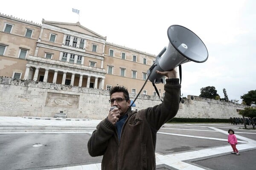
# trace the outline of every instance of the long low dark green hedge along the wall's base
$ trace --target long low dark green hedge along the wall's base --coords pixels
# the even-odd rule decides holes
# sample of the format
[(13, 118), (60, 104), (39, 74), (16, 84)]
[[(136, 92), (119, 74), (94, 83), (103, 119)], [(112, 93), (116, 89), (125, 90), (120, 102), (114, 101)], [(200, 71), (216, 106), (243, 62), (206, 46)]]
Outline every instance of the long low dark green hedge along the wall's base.
[(213, 118), (177, 118), (169, 120), (168, 123), (174, 122), (195, 122), (195, 123), (230, 123), (230, 119), (213, 119)]

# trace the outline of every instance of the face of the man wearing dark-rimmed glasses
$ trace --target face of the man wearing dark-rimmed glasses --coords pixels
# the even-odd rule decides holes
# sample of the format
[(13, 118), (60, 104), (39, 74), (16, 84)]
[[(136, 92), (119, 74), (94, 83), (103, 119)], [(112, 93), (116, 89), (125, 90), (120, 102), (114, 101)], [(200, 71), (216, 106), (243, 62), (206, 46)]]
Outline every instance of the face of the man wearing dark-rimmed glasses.
[(125, 100), (125, 96), (124, 96), (123, 92), (116, 92), (110, 96), (110, 99), (117, 99), (117, 98), (122, 98), (123, 100), (121, 102), (116, 102), (116, 100), (115, 100), (113, 103), (111, 103), (111, 107), (116, 106), (119, 109), (120, 114), (122, 115), (129, 108), (129, 106), (131, 104), (131, 100)]

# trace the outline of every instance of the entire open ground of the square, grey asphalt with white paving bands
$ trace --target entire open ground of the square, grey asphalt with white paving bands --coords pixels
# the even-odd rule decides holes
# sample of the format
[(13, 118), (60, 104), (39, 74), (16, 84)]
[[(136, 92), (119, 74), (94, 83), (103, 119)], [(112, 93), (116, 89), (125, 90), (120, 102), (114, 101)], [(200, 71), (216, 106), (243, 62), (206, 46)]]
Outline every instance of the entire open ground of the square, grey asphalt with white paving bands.
[[(102, 157), (91, 157), (87, 151), (91, 127), (98, 123), (92, 122), (0, 117), (0, 170), (87, 170), (87, 165), (95, 167), (90, 170), (100, 170)], [(256, 130), (242, 127), (164, 125), (157, 133), (157, 170), (255, 170)], [(238, 137), (240, 156), (230, 154), (230, 128)]]

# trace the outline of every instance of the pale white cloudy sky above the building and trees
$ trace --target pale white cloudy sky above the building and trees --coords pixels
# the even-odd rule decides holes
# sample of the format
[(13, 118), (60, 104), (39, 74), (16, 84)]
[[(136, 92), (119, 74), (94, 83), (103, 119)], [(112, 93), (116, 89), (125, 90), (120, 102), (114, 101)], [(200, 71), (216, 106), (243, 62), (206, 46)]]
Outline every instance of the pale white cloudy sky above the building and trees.
[(35, 23), (79, 21), (108, 42), (155, 55), (169, 44), (169, 26), (184, 26), (201, 38), (209, 57), (182, 65), (183, 96), (214, 86), (221, 98), (225, 88), (241, 103), (240, 96), (256, 90), (255, 8), (255, 0), (9, 0), (0, 13)]

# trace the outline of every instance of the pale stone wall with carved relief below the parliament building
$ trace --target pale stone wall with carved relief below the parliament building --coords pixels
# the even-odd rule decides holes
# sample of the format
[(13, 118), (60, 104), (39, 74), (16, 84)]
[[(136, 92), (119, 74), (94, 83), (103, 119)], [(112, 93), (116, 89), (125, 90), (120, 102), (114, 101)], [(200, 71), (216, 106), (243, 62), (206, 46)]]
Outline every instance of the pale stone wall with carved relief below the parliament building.
[[(135, 94), (130, 94), (134, 100)], [(67, 114), (70, 118), (104, 119), (110, 104), (106, 90), (60, 85), (47, 82), (0, 77), (0, 116), (46, 116)], [(140, 95), (136, 107), (143, 109), (160, 104), (158, 96)], [(244, 105), (188, 96), (180, 102), (176, 117), (230, 118), (238, 117)]]

